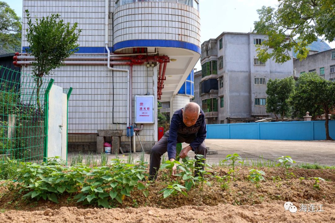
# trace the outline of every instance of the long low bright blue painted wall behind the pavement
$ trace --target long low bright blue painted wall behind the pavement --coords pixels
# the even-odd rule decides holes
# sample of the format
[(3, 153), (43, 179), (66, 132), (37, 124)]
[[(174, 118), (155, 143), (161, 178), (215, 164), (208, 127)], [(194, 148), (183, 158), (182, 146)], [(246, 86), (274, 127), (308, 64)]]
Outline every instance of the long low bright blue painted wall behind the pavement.
[[(206, 125), (208, 139), (325, 140), (325, 121)], [(329, 121), (335, 139), (335, 121)]]

